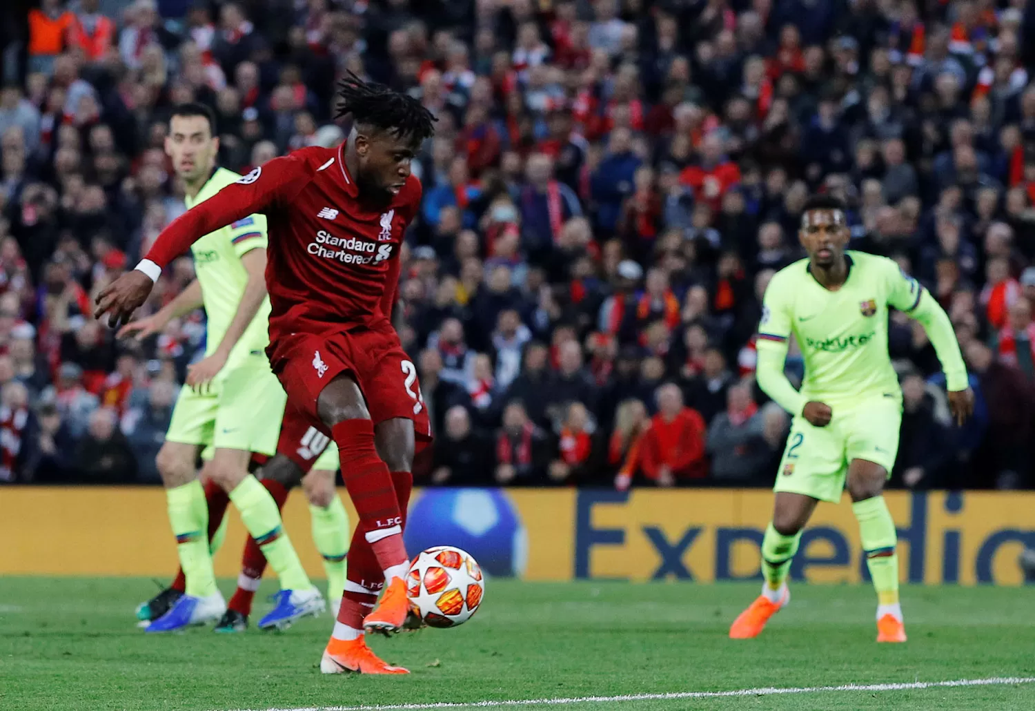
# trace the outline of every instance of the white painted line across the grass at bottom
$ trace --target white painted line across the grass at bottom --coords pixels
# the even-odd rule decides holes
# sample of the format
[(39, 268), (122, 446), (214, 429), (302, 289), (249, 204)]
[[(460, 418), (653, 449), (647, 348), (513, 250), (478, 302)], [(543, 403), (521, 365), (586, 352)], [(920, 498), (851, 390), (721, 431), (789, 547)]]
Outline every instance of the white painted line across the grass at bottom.
[[(678, 699), (722, 699), (727, 697), (775, 697), (785, 693), (821, 693), (827, 691), (905, 691), (909, 689), (945, 688), (952, 686), (996, 686), (1031, 684), (1035, 677), (992, 677), (988, 679), (955, 679), (951, 681), (914, 681), (899, 684), (842, 684), (840, 686), (764, 686), (733, 691), (674, 691), (671, 693), (630, 693), (620, 697), (573, 697), (570, 699), (511, 699), (504, 701), (439, 702), (437, 704), (388, 704), (375, 706), (303, 706), (272, 708), (261, 711), (421, 711), (422, 709), (489, 709), (507, 706), (567, 706), (570, 704), (615, 704), (627, 701), (673, 701)], [(260, 711), (242, 709), (240, 711)]]

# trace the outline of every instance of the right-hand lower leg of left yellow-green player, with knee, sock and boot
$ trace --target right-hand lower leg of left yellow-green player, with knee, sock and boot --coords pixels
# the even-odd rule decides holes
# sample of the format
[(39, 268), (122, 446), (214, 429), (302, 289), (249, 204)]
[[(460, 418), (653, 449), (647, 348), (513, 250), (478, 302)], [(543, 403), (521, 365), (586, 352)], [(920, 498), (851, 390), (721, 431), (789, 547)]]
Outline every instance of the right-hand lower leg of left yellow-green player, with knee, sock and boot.
[(282, 590), (274, 612), (280, 606), (319, 612), (324, 609), (323, 596), (302, 568), (298, 554), (284, 530), (273, 496), (255, 476), (248, 474), (250, 456), (247, 451), (218, 448), (202, 471), (230, 494), (244, 527), (280, 579)]

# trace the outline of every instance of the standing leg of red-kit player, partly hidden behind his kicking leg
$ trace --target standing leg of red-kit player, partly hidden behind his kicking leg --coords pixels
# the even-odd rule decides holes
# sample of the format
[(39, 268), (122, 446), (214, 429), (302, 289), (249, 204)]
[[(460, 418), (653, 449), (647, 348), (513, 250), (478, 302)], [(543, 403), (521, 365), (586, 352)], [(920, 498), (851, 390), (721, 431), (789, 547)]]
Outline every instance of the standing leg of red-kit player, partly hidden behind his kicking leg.
[[(391, 470), (392, 486), (395, 490), (401, 511), (401, 528), (406, 527), (406, 511), (413, 486), (414, 437), (413, 422), (394, 418), (378, 423), (375, 445), (381, 460)], [(345, 473), (343, 464), (343, 474)], [(330, 641), (320, 661), (324, 674), (360, 672), (362, 674), (406, 674), (407, 670), (391, 666), (379, 659), (364, 641), (364, 621), (378, 598), (378, 592), (385, 582), (384, 571), (374, 553), (366, 534), (369, 529), (360, 521), (352, 537), (349, 549), (349, 569), (345, 582), (345, 594), (337, 611), (337, 620)], [(402, 590), (406, 598), (405, 587)], [(369, 615), (368, 615), (369, 613)]]

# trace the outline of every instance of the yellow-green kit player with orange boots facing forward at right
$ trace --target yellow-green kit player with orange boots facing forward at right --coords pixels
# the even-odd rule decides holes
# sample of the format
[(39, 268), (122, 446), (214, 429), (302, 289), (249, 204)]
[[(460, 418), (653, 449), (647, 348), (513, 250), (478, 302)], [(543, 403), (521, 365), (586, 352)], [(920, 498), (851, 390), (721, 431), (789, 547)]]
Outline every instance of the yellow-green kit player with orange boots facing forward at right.
[[(877, 641), (906, 642), (895, 525), (882, 496), (901, 421), (901, 390), (888, 356), (889, 306), (923, 325), (957, 422), (971, 414), (974, 395), (952, 324), (934, 297), (891, 260), (845, 250), (849, 229), (840, 201), (809, 199), (798, 238), (808, 258), (769, 284), (758, 337), (759, 386), (794, 420), (762, 542), (762, 595), (730, 636), (757, 636), (790, 601), (786, 579), (802, 528), (819, 501), (837, 503), (848, 488), (877, 589)], [(783, 375), (792, 333), (805, 360), (800, 391)]]

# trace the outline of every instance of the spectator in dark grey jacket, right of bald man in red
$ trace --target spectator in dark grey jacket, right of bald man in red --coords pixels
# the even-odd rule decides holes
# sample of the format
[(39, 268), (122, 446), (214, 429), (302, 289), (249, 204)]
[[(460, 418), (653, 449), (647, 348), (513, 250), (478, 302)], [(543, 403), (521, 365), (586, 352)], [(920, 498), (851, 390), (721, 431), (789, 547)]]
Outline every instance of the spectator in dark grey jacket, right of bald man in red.
[(765, 466), (774, 449), (765, 437), (765, 421), (751, 398), (751, 388), (738, 383), (727, 390), (726, 412), (708, 427), (707, 449), (711, 455), (711, 476), (728, 485), (764, 481)]

